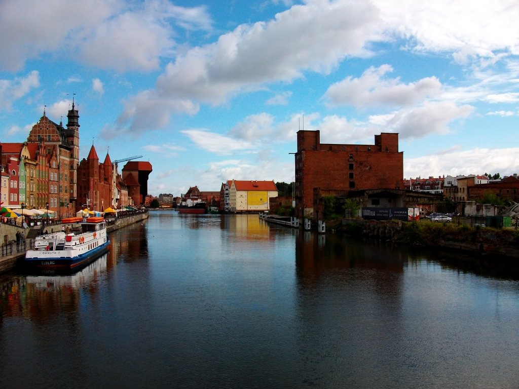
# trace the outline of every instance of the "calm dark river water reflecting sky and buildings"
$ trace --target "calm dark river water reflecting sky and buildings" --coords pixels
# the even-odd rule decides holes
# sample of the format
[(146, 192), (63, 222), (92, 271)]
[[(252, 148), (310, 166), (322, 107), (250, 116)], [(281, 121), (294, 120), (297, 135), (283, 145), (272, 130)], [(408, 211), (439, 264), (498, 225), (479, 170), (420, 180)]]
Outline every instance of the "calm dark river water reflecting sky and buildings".
[(152, 213), (0, 279), (0, 387), (517, 388), (519, 281), (444, 253)]

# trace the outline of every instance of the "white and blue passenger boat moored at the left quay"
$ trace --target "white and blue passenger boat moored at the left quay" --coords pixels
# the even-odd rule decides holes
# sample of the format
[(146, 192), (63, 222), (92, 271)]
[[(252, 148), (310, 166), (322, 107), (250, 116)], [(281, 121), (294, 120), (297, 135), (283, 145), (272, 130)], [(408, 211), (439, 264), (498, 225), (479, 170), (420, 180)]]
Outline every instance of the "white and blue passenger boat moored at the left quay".
[(89, 217), (86, 221), (63, 219), (65, 231), (36, 237), (34, 249), (25, 254), (25, 265), (36, 269), (80, 269), (108, 251), (106, 221)]

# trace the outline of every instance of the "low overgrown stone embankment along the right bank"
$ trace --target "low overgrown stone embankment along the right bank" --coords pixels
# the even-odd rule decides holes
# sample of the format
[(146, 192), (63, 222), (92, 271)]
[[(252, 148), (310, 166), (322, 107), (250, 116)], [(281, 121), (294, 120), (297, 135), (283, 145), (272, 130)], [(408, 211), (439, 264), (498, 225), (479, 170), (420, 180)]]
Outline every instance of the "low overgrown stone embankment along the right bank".
[(428, 221), (408, 223), (398, 220), (343, 219), (341, 230), (394, 242), (519, 259), (519, 231), (512, 229), (433, 224)]

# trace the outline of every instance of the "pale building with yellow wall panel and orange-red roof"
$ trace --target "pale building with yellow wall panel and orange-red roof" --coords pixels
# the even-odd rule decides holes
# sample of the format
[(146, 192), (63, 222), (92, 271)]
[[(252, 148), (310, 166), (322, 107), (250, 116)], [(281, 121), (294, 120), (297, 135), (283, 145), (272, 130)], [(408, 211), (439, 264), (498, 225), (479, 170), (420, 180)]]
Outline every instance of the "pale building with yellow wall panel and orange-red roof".
[(269, 199), (278, 196), (274, 181), (239, 181), (233, 179), (229, 188), (230, 212), (264, 212)]

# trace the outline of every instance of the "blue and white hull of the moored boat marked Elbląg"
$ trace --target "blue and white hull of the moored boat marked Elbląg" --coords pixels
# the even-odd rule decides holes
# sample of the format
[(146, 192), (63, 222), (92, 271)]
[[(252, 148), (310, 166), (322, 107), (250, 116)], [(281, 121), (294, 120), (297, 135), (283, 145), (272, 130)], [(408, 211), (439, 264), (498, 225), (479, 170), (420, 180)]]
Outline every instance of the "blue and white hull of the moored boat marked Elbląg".
[(36, 252), (37, 256), (31, 256), (31, 252), (25, 256), (24, 264), (29, 269), (38, 270), (76, 270), (87, 266), (110, 249), (110, 240), (91, 249), (90, 251), (76, 256), (60, 256), (66, 254), (64, 251)]

